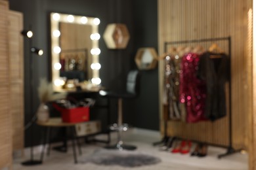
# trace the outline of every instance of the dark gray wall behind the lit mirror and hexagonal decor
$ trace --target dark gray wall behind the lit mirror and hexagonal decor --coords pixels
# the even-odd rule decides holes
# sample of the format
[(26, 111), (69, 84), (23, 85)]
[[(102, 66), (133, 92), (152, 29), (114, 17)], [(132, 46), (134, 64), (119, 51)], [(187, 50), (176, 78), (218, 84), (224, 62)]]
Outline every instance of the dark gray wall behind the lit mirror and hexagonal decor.
[[(10, 9), (24, 14), (24, 29), (32, 27), (33, 46), (43, 48), (43, 57), (34, 56), (33, 63), (28, 58), (28, 40), (24, 39), (25, 62), (25, 124), (28, 124), (39, 105), (37, 86), (39, 78), (50, 79), (51, 64), (49, 39), (49, 13), (62, 12), (100, 18), (99, 32), (110, 23), (127, 25), (131, 39), (125, 50), (109, 50), (103, 39), (100, 39), (101, 49), (100, 78), (102, 86), (117, 88), (123, 86), (127, 72), (136, 69), (134, 57), (140, 47), (158, 48), (157, 0), (9, 0)], [(146, 4), (146, 5), (145, 5)], [(30, 65), (33, 67), (33, 88), (30, 89)], [(158, 69), (141, 71), (140, 95), (137, 99), (124, 101), (125, 122), (135, 127), (159, 129), (158, 113)], [(33, 102), (30, 102), (32, 93)], [(30, 112), (32, 110), (32, 112)], [(113, 109), (114, 110), (114, 109)], [(114, 121), (115, 116), (112, 118)], [(33, 126), (35, 144), (39, 143), (41, 127)], [(26, 130), (26, 146), (30, 145), (31, 133)]]

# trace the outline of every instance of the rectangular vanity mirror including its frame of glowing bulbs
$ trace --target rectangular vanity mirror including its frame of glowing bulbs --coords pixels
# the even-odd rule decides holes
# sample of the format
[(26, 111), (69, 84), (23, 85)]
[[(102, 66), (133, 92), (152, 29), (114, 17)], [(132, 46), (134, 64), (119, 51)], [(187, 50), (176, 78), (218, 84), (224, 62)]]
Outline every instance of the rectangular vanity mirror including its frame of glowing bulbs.
[(100, 84), (98, 18), (51, 13), (52, 81), (55, 91), (70, 80)]

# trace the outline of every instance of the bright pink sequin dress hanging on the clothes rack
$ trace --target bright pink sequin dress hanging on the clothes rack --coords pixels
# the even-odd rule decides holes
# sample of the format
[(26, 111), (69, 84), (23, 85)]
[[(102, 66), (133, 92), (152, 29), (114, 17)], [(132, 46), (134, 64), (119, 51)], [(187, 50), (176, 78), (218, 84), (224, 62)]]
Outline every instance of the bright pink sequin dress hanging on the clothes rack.
[(188, 53), (182, 57), (180, 73), (180, 101), (186, 105), (186, 122), (194, 123), (205, 118), (205, 81), (198, 75), (200, 55)]

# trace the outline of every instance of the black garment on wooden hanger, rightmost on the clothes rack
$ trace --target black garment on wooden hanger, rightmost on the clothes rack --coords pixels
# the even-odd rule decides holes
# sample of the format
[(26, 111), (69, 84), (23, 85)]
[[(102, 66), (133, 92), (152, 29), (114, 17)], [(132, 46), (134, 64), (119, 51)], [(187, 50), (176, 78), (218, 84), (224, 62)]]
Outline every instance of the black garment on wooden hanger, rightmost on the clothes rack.
[(224, 53), (205, 52), (200, 57), (198, 77), (205, 80), (205, 116), (214, 121), (226, 116), (225, 83), (230, 79), (230, 59)]

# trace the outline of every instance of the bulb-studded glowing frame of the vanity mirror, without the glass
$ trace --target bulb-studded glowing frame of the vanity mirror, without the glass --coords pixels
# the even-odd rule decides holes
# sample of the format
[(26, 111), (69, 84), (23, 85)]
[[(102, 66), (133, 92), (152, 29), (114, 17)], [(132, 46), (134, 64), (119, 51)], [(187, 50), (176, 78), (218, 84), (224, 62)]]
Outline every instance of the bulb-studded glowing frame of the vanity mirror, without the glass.
[[(98, 56), (100, 54), (100, 48), (98, 48), (98, 40), (100, 35), (98, 33), (98, 25), (100, 20), (98, 18), (88, 17), (88, 16), (77, 16), (73, 14), (62, 14), (58, 12), (51, 12), (51, 70), (52, 70), (52, 82), (54, 91), (63, 91), (62, 86), (64, 85), (64, 79), (60, 77), (60, 41), (59, 37), (61, 35), (59, 29), (59, 23), (74, 23), (92, 26), (92, 49), (91, 52), (91, 69), (92, 77), (88, 80), (93, 85), (99, 85), (101, 80), (99, 78), (100, 63), (98, 61)], [(57, 34), (54, 34), (56, 33)], [(96, 65), (96, 67), (94, 67)]]

